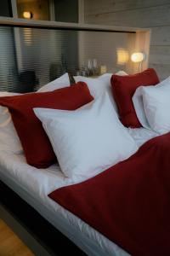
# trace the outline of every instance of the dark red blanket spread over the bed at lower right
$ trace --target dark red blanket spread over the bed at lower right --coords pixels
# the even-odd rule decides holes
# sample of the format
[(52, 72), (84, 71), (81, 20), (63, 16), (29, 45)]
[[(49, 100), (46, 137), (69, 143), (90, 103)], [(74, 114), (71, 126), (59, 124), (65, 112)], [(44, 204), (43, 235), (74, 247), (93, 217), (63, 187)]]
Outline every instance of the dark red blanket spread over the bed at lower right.
[(128, 160), (49, 195), (128, 253), (170, 255), (170, 133)]

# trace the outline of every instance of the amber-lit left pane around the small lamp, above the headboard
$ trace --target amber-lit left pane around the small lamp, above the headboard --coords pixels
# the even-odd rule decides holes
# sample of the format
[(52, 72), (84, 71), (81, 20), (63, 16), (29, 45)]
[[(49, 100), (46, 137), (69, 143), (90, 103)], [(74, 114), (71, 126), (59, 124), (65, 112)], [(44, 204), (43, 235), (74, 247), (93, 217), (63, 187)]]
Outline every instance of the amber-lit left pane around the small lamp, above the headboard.
[(34, 20), (49, 19), (48, 0), (17, 0), (18, 17), (25, 18), (25, 13), (30, 13)]

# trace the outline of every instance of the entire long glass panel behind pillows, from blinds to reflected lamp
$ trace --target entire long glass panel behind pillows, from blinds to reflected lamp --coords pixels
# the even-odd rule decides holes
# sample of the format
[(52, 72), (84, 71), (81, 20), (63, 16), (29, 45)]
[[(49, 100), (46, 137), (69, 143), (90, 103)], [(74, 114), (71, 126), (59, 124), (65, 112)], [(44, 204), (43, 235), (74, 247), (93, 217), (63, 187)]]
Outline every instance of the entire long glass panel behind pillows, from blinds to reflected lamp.
[(37, 90), (65, 72), (96, 76), (125, 69), (127, 39), (123, 32), (0, 26), (0, 90)]

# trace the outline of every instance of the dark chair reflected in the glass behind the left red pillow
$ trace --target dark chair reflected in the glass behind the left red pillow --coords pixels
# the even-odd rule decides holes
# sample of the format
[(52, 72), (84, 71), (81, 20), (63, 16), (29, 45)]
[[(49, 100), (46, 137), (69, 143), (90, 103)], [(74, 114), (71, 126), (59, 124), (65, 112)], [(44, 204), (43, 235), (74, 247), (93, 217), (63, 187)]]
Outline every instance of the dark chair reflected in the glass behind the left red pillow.
[(20, 87), (18, 88), (18, 92), (21, 93), (34, 91), (36, 85), (38, 84), (36, 73), (32, 70), (21, 72), (19, 76), (19, 81)]

